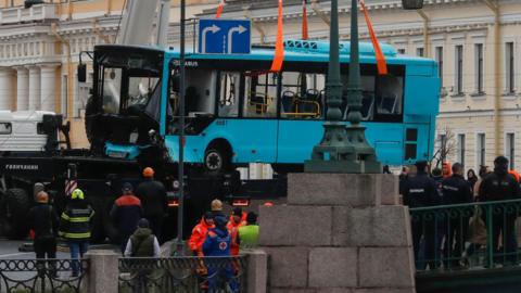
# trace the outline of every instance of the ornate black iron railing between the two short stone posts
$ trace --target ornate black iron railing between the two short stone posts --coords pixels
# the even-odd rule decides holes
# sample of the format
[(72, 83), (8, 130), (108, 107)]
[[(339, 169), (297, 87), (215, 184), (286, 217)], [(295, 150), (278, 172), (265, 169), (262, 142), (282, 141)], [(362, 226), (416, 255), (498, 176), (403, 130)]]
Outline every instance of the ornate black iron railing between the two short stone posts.
[(246, 256), (120, 258), (119, 293), (246, 292)]

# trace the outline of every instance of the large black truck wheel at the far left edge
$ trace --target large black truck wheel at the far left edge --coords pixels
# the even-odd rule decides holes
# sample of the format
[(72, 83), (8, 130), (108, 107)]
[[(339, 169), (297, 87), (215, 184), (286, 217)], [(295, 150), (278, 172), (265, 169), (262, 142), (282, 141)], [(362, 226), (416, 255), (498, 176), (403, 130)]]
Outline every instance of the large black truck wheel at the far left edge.
[(29, 196), (25, 190), (8, 189), (2, 201), (2, 212), (5, 218), (4, 231), (8, 239), (21, 240), (27, 237), (29, 225), (26, 216), (29, 207)]

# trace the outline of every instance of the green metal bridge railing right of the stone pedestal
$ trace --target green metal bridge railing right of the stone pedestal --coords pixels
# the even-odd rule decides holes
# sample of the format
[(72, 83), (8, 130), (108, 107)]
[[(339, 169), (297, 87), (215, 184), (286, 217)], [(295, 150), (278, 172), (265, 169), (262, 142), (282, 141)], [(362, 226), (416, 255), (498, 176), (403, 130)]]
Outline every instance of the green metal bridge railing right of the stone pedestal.
[(518, 264), (521, 199), (410, 209), (417, 271)]

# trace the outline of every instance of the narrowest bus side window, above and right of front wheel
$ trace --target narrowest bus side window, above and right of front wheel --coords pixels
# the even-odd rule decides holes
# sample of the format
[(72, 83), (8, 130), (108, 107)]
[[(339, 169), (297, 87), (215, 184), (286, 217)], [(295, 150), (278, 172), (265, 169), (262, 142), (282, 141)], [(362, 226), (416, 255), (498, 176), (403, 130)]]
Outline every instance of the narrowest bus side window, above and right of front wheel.
[(240, 81), (239, 73), (220, 73), (219, 117), (239, 116)]

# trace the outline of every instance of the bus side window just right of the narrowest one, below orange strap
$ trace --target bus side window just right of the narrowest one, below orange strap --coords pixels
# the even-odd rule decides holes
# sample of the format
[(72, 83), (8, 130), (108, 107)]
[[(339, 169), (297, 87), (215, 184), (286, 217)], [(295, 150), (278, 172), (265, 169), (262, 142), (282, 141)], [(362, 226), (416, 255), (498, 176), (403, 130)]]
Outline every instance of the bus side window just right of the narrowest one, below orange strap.
[(244, 74), (244, 117), (277, 116), (277, 74)]

